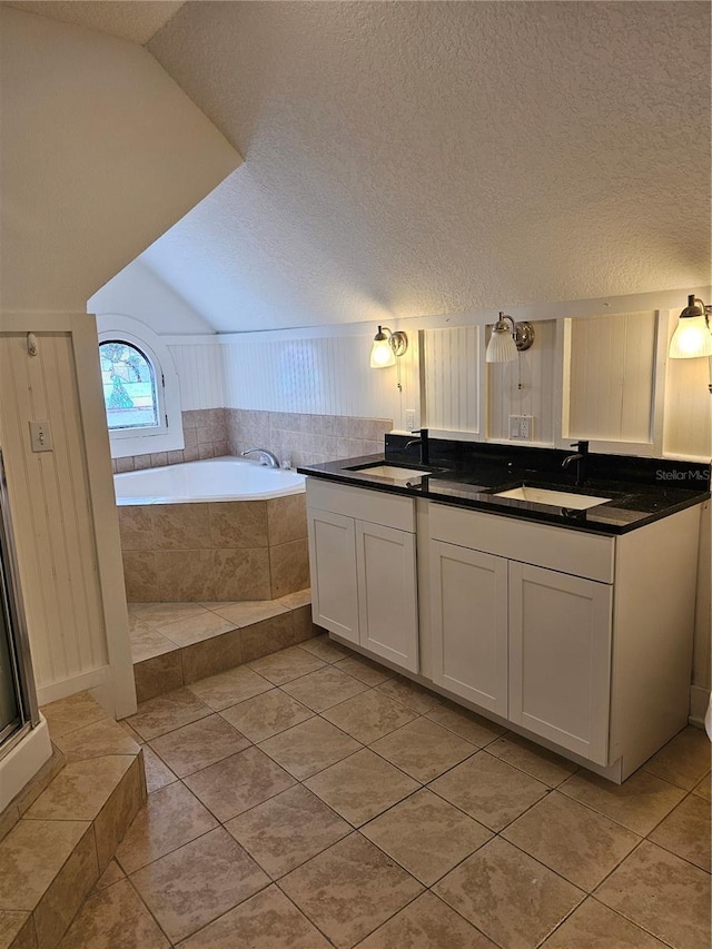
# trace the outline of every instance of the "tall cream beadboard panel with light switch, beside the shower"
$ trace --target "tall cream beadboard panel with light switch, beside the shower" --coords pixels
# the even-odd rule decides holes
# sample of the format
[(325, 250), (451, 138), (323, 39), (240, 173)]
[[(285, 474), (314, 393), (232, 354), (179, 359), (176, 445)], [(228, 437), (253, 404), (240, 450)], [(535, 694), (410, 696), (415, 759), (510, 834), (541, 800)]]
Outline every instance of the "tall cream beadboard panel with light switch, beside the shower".
[[(0, 336), (0, 442), (42, 690), (108, 660), (71, 335), (37, 336), (32, 358), (24, 334)], [(49, 419), (52, 452), (30, 451), (30, 419)]]

